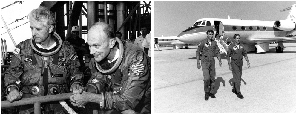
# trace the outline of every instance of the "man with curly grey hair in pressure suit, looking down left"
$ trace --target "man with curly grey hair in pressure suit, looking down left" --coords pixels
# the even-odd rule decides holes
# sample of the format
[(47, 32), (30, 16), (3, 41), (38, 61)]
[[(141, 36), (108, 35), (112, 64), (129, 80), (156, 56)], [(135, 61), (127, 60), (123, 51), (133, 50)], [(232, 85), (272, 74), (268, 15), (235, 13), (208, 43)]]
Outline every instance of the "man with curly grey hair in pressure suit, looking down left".
[[(22, 98), (83, 90), (83, 74), (77, 54), (69, 42), (62, 42), (53, 29), (54, 14), (40, 6), (29, 14), (32, 38), (19, 43), (4, 75), (4, 92), (10, 102)], [(69, 89), (70, 88), (70, 89)], [(70, 90), (70, 91), (69, 91)], [(41, 104), (42, 113), (67, 113), (58, 101)], [(21, 106), (19, 113), (33, 113), (33, 104)]]

